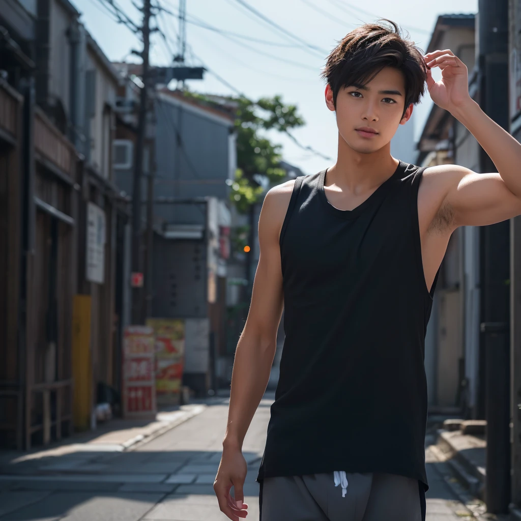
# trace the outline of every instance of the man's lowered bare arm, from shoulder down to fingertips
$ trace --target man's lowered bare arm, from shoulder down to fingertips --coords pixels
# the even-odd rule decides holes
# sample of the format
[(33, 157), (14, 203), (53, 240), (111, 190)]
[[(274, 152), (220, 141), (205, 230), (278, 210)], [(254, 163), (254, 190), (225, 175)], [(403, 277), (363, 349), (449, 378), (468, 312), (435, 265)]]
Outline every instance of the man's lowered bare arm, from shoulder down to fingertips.
[[(246, 516), (243, 484), (246, 461), (242, 443), (258, 404), (266, 391), (275, 356), (277, 329), (282, 314), (282, 272), (279, 234), (294, 181), (272, 188), (259, 217), (261, 253), (253, 283), (252, 300), (233, 364), (230, 407), (222, 458), (214, 482), (219, 508), (230, 519)], [(234, 487), (235, 497), (230, 497)]]

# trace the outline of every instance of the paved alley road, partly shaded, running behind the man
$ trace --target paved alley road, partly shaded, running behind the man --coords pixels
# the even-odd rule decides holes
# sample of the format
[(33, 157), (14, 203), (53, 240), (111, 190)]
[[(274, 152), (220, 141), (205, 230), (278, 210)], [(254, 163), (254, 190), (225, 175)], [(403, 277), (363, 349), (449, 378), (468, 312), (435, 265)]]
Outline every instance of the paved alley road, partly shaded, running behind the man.
[[(0, 521), (226, 521), (213, 492), (227, 400), (132, 452), (95, 450), (48, 457), (0, 475)], [(258, 520), (255, 477), (264, 450), (271, 400), (263, 400), (244, 441), (244, 487), (251, 521)], [(427, 521), (465, 519), (427, 452)], [(4, 471), (6, 472), (6, 471)], [(471, 519), (467, 517), (467, 519)]]

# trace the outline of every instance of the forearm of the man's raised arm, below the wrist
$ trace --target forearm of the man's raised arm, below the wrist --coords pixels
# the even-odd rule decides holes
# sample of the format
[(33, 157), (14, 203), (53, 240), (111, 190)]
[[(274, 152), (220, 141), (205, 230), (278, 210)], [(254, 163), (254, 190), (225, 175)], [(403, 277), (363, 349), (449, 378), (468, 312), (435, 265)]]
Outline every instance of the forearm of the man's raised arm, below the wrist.
[(506, 187), (521, 197), (521, 144), (490, 119), (474, 100), (451, 110), (490, 156)]

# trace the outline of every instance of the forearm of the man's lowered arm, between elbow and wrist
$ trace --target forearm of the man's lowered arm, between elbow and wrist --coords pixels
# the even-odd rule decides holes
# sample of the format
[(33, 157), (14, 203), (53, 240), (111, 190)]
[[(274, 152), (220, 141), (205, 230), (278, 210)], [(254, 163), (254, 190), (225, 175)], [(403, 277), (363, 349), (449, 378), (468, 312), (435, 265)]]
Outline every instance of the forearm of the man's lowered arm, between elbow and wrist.
[(276, 339), (269, 341), (244, 331), (241, 335), (231, 379), (228, 424), (223, 446), (242, 448), (258, 404), (266, 391)]

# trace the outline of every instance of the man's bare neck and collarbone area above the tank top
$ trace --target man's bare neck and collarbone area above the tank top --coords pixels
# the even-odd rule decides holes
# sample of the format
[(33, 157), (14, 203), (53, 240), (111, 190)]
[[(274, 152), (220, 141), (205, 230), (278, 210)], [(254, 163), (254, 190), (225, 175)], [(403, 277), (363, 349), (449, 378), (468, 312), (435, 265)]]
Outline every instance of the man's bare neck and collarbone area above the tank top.
[(339, 135), (338, 158), (327, 171), (327, 185), (335, 184), (342, 192), (353, 195), (374, 190), (398, 167), (398, 159), (391, 156), (390, 148), (389, 143), (373, 153), (356, 152)]

